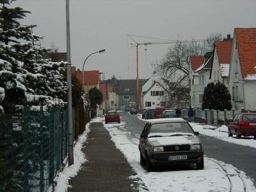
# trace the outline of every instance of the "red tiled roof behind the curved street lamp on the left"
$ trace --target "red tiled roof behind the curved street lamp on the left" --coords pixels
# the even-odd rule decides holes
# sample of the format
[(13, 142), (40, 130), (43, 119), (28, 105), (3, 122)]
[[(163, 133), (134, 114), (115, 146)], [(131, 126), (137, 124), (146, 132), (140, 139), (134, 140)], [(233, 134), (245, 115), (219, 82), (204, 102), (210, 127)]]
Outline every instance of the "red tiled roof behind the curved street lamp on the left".
[[(93, 76), (94, 74), (97, 74), (97, 75)], [(76, 77), (81, 81), (81, 83), (83, 83), (83, 71), (77, 70)], [(89, 79), (90, 79), (89, 84), (99, 84), (99, 70), (84, 71), (84, 84), (88, 84)]]

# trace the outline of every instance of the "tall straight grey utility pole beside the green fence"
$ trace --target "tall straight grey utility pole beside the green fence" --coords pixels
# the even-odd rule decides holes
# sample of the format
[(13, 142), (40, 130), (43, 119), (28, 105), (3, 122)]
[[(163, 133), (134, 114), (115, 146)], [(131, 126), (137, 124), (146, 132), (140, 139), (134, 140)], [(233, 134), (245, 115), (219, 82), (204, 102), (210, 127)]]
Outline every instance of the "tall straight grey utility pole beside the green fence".
[(73, 152), (73, 115), (72, 115), (72, 81), (71, 81), (71, 56), (70, 56), (70, 23), (69, 23), (69, 0), (66, 0), (67, 22), (67, 91), (68, 91), (68, 166), (74, 164)]

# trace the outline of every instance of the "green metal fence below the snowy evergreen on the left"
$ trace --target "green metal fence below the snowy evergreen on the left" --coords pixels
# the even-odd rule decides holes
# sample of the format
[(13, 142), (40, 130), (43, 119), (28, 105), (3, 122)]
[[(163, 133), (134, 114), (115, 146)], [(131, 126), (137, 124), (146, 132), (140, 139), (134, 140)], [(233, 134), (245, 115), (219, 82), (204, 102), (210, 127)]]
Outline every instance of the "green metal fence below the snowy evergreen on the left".
[(0, 115), (0, 191), (48, 191), (68, 154), (67, 120), (60, 109)]

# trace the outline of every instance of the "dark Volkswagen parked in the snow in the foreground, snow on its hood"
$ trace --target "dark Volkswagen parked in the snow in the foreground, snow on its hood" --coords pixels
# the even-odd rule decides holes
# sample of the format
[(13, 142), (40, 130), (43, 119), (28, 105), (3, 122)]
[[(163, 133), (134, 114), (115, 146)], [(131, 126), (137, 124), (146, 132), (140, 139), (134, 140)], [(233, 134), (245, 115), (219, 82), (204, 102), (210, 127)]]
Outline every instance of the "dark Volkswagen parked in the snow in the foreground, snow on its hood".
[(199, 132), (181, 118), (150, 120), (140, 136), (140, 163), (150, 172), (153, 166), (194, 164), (204, 168), (204, 148)]

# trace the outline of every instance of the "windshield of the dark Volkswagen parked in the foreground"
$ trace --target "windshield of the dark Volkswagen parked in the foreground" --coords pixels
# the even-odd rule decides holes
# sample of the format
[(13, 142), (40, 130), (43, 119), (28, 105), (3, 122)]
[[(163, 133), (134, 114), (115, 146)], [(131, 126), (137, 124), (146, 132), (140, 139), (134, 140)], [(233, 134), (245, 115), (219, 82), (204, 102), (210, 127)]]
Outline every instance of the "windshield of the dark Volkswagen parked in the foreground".
[(148, 138), (156, 136), (183, 136), (195, 135), (187, 122), (164, 122), (152, 124)]

